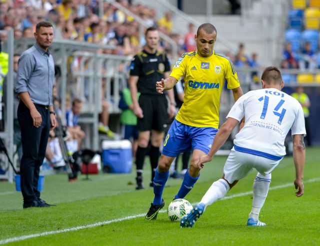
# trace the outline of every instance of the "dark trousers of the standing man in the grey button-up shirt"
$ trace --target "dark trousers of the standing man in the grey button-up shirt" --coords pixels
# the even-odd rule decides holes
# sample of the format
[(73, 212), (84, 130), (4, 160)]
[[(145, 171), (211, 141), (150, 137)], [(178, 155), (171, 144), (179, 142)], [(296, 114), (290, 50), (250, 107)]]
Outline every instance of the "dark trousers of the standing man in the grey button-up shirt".
[(23, 102), (17, 110), (18, 122), (21, 128), (22, 158), (20, 163), (20, 186), (25, 203), (37, 200), (40, 197), (38, 180), (50, 130), (49, 109), (36, 106), (42, 117), (41, 126), (33, 126), (29, 109)]

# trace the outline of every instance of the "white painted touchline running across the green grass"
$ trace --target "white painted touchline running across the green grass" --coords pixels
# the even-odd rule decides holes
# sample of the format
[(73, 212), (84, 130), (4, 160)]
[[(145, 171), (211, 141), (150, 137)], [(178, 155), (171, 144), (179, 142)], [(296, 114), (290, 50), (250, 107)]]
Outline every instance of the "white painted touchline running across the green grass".
[[(305, 180), (303, 183), (311, 183), (311, 182), (317, 182), (317, 181), (320, 181), (320, 178), (308, 179), (308, 180)], [(286, 187), (290, 187), (290, 186), (293, 186), (293, 182), (273, 186), (273, 187), (270, 187), (269, 190), (281, 189), (281, 188), (286, 188)], [(242, 193), (238, 193), (238, 194), (234, 194), (234, 195), (230, 195), (230, 196), (225, 196), (225, 197), (221, 198), (220, 200), (232, 199), (234, 197), (245, 196), (245, 195), (249, 195), (252, 193), (253, 193), (252, 191), (242, 192)], [(166, 211), (162, 210), (159, 212), (166, 212)], [(63, 232), (92, 228), (92, 227), (101, 226), (104, 224), (110, 224), (110, 223), (114, 223), (114, 222), (119, 222), (119, 221), (123, 221), (123, 220), (128, 220), (128, 219), (137, 218), (137, 217), (144, 217), (144, 216), (145, 216), (145, 213), (140, 213), (140, 214), (135, 214), (135, 215), (131, 215), (131, 216), (126, 216), (123, 218), (117, 218), (117, 219), (107, 220), (107, 221), (103, 221), (103, 222), (97, 222), (97, 223), (88, 224), (88, 225), (81, 225), (81, 226), (66, 228), (66, 229), (62, 229), (62, 230), (52, 230), (52, 231), (46, 231), (46, 232), (35, 233), (35, 234), (30, 234), (30, 235), (17, 236), (17, 237), (12, 237), (12, 238), (0, 240), (0, 244), (5, 244), (8, 242), (14, 242), (14, 241), (21, 241), (21, 240), (25, 240), (28, 238), (34, 238), (34, 237), (39, 237), (39, 236), (46, 236), (46, 235), (63, 233)]]

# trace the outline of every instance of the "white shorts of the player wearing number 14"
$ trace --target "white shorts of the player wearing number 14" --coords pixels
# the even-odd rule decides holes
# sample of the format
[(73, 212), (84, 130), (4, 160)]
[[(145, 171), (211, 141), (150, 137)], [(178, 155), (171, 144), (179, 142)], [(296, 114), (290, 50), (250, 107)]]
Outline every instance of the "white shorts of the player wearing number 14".
[(232, 148), (223, 167), (224, 178), (231, 184), (235, 180), (244, 178), (253, 168), (265, 176), (279, 164), (280, 160), (243, 153)]

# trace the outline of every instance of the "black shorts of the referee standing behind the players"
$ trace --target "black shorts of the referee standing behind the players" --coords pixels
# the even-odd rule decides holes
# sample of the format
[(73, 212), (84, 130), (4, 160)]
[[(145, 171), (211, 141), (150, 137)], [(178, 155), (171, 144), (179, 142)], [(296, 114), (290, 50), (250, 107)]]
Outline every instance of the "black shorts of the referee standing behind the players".
[(138, 131), (164, 131), (168, 120), (168, 101), (165, 95), (140, 95), (143, 118), (137, 119)]

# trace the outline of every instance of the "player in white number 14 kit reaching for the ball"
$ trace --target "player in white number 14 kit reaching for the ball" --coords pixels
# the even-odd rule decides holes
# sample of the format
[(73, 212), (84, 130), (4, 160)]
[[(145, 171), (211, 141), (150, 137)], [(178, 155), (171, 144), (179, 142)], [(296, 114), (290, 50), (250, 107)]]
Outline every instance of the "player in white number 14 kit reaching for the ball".
[(185, 215), (181, 227), (192, 227), (205, 208), (222, 198), (238, 180), (255, 168), (258, 171), (253, 183), (252, 210), (247, 225), (263, 226), (258, 218), (268, 193), (271, 171), (285, 155), (284, 138), (291, 129), (293, 161), (295, 166), (295, 192), (303, 195), (303, 168), (305, 161), (304, 117), (302, 107), (293, 97), (281, 92), (284, 82), (276, 67), (267, 67), (261, 76), (262, 88), (240, 97), (227, 115), (227, 120), (216, 133), (207, 155), (199, 158), (199, 168), (211, 161), (232, 130), (245, 117), (243, 128), (236, 134), (224, 168), (222, 178), (213, 182), (201, 201)]

